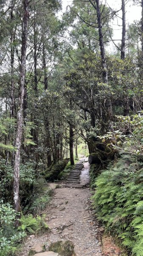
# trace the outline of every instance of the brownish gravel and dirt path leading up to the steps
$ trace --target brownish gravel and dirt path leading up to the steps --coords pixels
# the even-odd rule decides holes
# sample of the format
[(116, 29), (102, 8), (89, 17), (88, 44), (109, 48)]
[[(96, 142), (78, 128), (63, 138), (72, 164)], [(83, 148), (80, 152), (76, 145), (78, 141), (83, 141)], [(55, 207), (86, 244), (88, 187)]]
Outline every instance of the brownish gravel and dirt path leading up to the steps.
[[(89, 183), (89, 163), (84, 163), (81, 172), (81, 182)], [(51, 184), (54, 189), (55, 183)], [(121, 255), (112, 239), (104, 239), (101, 243), (103, 227), (100, 227), (91, 209), (91, 193), (85, 189), (54, 189), (54, 196), (50, 205), (42, 212), (46, 215), (49, 233), (39, 237), (34, 235), (26, 239), (19, 256), (28, 256), (31, 247), (45, 244), (46, 249), (53, 241), (71, 240), (75, 244), (76, 256)], [(102, 246), (101, 246), (102, 245)]]

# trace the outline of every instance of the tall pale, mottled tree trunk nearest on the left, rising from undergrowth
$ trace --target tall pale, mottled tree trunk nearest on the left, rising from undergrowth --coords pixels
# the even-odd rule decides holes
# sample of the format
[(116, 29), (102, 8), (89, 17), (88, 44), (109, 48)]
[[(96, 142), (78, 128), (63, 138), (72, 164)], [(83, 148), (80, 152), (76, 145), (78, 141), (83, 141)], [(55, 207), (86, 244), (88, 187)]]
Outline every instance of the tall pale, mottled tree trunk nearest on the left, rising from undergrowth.
[[(25, 84), (25, 66), (26, 66), (26, 48), (27, 48), (27, 32), (28, 32), (28, 0), (23, 0), (23, 23), (22, 23), (22, 49), (21, 49), (21, 64), (20, 64), (20, 88), (18, 99), (18, 111), (17, 111), (17, 132), (15, 147), (17, 151), (15, 153), (14, 160), (14, 209), (16, 212), (20, 211), (20, 195), (19, 195), (19, 183), (20, 183), (20, 146), (22, 139), (22, 114), (23, 114), (23, 99), (24, 99), (24, 84)], [(15, 223), (18, 226), (18, 221)]]

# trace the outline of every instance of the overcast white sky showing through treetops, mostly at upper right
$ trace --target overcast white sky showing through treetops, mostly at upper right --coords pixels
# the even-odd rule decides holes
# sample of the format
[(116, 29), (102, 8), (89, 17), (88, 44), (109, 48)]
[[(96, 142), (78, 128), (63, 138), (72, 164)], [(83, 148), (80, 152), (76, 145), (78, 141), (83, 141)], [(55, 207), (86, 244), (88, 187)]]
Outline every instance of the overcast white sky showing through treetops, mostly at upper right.
[[(62, 0), (62, 12), (65, 12), (67, 5), (70, 5), (73, 1), (71, 0)], [(103, 3), (105, 0), (103, 0)], [(126, 0), (127, 2), (127, 0)], [(126, 24), (133, 23), (134, 20), (140, 20), (141, 19), (141, 6), (132, 6), (133, 1), (128, 1), (126, 4)], [(114, 10), (121, 9), (121, 0), (107, 0), (107, 6), (110, 6)], [(119, 12), (118, 15), (121, 17), (122, 13)], [(122, 24), (122, 20), (118, 19), (118, 24)], [(114, 30), (113, 39), (121, 39), (121, 27), (117, 25), (117, 19), (115, 19), (112, 23), (112, 27)]]

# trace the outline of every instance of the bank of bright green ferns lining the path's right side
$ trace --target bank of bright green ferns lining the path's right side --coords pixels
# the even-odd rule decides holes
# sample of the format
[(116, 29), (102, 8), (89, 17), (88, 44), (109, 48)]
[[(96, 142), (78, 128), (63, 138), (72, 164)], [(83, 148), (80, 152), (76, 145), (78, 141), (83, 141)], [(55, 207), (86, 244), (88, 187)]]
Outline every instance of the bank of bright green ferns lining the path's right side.
[(122, 244), (143, 256), (143, 162), (122, 155), (95, 181), (93, 205), (98, 219), (118, 234)]

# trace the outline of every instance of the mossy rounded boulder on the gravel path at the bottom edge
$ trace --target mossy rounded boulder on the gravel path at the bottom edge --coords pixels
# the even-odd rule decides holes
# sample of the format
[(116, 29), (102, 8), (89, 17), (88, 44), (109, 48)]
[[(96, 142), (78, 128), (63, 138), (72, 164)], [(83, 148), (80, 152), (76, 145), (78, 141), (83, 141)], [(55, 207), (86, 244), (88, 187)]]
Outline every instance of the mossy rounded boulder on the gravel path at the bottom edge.
[(49, 246), (49, 250), (59, 253), (61, 256), (74, 256), (74, 244), (70, 240), (53, 242)]

